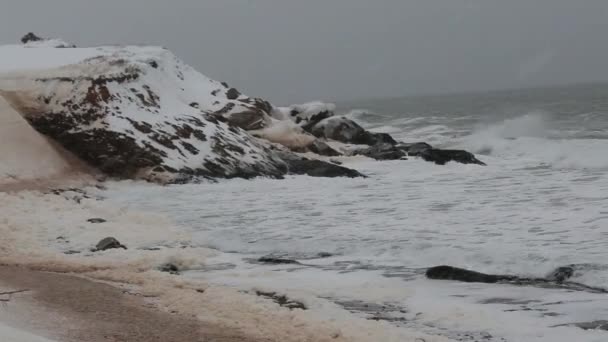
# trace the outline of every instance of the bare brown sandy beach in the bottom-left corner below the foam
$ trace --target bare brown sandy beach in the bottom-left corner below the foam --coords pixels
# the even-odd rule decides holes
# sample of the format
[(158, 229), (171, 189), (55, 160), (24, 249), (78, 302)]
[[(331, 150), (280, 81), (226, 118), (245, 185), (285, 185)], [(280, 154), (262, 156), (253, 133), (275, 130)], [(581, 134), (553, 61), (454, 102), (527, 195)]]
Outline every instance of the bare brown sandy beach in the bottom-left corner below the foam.
[[(163, 312), (120, 288), (0, 266), (0, 322), (61, 342), (257, 342), (223, 326)], [(5, 341), (9, 342), (9, 341)]]

